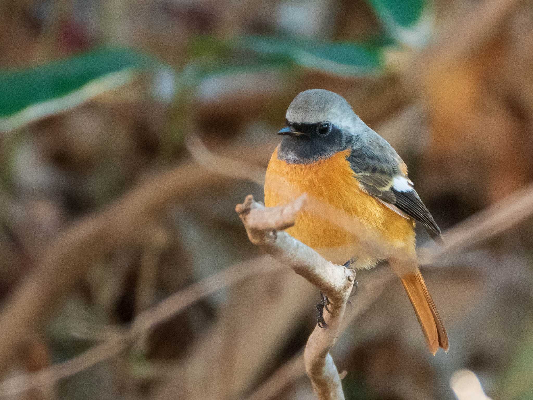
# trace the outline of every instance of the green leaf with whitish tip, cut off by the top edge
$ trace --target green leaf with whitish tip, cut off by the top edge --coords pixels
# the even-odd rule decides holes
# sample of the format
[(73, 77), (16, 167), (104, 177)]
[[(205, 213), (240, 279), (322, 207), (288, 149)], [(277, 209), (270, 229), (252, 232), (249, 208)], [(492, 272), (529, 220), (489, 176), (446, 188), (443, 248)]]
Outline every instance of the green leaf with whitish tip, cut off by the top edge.
[(396, 41), (422, 47), (429, 41), (434, 25), (430, 0), (367, 0), (383, 28)]

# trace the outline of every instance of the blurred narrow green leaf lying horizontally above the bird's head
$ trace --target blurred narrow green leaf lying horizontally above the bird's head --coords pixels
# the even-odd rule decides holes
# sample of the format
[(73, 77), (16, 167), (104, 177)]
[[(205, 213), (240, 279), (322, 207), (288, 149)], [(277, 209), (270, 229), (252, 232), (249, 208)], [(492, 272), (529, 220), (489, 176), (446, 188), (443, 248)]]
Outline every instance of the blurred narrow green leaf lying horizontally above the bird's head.
[(236, 43), (266, 60), (293, 63), (334, 75), (361, 76), (383, 68), (382, 46), (352, 42), (320, 43), (267, 36), (246, 36)]

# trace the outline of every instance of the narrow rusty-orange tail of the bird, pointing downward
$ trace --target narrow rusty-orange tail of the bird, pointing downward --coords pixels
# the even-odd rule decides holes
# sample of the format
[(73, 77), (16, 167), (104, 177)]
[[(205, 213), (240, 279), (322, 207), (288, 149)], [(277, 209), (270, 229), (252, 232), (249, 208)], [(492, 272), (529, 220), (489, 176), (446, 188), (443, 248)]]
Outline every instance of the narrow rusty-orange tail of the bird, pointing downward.
[(448, 351), (450, 347), (448, 335), (446, 334), (444, 325), (442, 325), (430, 292), (427, 291), (422, 274), (417, 269), (415, 273), (406, 274), (400, 278), (409, 296), (409, 300), (411, 300), (411, 304), (415, 309), (418, 322), (422, 327), (427, 346), (430, 348), (431, 353), (435, 355), (439, 347), (442, 347), (444, 351)]

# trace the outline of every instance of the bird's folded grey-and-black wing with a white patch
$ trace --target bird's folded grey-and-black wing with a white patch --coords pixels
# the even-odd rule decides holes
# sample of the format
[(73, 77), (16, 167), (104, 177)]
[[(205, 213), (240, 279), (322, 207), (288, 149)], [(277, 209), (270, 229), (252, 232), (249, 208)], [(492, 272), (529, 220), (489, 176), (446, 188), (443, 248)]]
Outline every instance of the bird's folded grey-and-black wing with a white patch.
[(383, 142), (352, 149), (347, 159), (356, 179), (370, 195), (420, 222), (431, 238), (442, 244), (440, 228), (416, 193), (413, 182), (403, 173), (400, 156), (384, 139)]

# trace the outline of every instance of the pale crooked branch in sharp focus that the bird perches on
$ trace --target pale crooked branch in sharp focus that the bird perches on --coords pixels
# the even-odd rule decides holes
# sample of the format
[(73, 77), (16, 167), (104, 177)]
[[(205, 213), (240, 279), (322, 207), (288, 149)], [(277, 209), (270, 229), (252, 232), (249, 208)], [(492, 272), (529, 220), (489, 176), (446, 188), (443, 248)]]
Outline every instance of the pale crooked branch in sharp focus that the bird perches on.
[(305, 346), (305, 371), (320, 400), (344, 399), (341, 377), (329, 350), (337, 340), (356, 273), (326, 261), (311, 247), (279, 231), (294, 225), (305, 200), (305, 196), (301, 196), (285, 206), (267, 208), (249, 195), (235, 210), (253, 244), (294, 269), (329, 298), (329, 312), (324, 315), (327, 327), (317, 325)]

